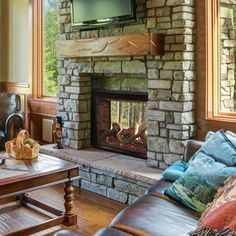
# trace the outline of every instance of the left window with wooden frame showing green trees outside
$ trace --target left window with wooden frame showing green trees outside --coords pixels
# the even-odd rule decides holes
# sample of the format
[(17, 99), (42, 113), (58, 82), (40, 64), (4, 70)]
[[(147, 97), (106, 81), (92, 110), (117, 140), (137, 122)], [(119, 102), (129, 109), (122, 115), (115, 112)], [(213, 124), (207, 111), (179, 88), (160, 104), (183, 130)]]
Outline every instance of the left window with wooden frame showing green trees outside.
[(56, 96), (59, 0), (32, 0), (33, 97)]

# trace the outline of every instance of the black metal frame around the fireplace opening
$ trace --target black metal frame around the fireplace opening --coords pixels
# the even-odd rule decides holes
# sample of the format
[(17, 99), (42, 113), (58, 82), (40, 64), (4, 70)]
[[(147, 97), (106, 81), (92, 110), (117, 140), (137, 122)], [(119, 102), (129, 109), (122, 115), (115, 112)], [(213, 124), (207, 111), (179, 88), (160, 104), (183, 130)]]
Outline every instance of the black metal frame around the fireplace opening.
[[(134, 101), (134, 102), (147, 102), (148, 95), (147, 93), (142, 92), (133, 92), (133, 91), (107, 91), (101, 89), (93, 89), (92, 91), (92, 104), (91, 104), (91, 142), (92, 146), (108, 151), (112, 151), (115, 153), (120, 153), (128, 156), (133, 156), (136, 158), (147, 159), (147, 153), (142, 155), (137, 152), (117, 149), (115, 150), (113, 147), (109, 145), (103, 145), (97, 143), (97, 122), (96, 122), (96, 99), (109, 99), (109, 100), (118, 100), (118, 101)], [(110, 112), (110, 111), (109, 111)]]

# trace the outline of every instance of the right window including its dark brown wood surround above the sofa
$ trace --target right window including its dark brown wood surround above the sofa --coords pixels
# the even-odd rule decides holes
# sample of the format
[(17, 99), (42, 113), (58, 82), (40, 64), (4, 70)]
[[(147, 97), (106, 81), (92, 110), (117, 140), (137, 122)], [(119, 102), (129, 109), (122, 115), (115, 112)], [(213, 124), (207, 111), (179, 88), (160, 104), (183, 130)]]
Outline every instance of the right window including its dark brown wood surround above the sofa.
[(197, 138), (209, 130), (236, 132), (235, 1), (198, 0), (196, 4)]

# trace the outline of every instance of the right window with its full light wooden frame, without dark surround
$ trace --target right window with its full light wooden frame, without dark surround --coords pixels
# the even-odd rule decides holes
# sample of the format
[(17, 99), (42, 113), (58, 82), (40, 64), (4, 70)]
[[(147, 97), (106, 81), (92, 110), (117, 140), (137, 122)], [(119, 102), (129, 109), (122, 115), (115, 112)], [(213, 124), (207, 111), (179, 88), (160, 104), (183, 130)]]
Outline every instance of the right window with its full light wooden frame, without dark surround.
[(204, 2), (207, 13), (205, 19), (206, 118), (235, 119), (235, 1)]

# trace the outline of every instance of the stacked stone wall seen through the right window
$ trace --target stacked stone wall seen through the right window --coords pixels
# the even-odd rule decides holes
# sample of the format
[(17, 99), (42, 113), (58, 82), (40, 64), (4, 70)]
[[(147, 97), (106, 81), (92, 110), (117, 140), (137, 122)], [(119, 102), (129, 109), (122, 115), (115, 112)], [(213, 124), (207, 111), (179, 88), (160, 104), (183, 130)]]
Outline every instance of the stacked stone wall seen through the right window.
[(235, 111), (235, 0), (221, 0), (221, 110)]

